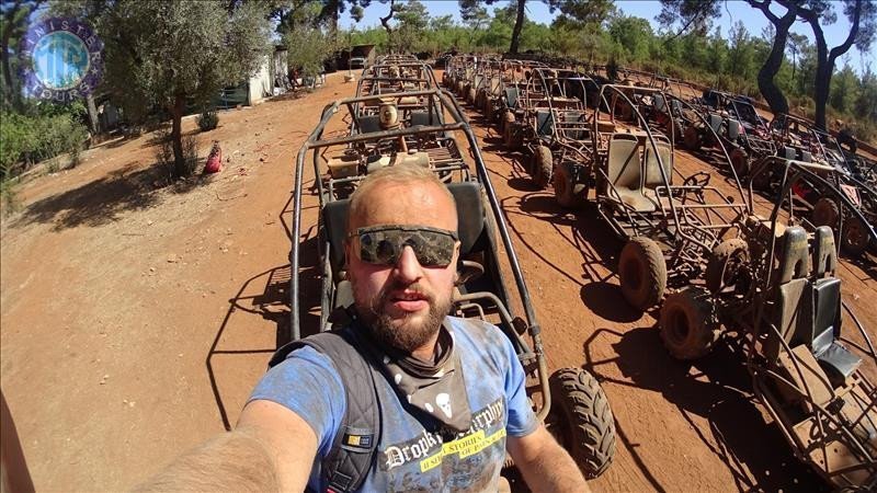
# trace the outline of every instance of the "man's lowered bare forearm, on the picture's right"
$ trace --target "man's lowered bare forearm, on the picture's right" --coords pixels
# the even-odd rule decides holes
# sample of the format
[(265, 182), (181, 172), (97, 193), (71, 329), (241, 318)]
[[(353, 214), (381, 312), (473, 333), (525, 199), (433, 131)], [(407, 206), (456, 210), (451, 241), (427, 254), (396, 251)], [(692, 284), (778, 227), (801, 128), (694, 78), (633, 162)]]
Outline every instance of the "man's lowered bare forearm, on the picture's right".
[(525, 436), (509, 436), (505, 448), (534, 492), (590, 492), (576, 461), (539, 425)]

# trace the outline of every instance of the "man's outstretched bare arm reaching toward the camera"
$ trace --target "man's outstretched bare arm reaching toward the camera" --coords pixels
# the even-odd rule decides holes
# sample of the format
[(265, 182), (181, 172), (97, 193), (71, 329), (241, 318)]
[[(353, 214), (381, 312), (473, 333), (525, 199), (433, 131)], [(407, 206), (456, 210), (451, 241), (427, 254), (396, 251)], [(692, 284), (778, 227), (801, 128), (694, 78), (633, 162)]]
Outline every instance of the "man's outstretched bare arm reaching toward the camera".
[(304, 491), (316, 455), (317, 436), (301, 417), (255, 400), (234, 432), (183, 455), (136, 491)]

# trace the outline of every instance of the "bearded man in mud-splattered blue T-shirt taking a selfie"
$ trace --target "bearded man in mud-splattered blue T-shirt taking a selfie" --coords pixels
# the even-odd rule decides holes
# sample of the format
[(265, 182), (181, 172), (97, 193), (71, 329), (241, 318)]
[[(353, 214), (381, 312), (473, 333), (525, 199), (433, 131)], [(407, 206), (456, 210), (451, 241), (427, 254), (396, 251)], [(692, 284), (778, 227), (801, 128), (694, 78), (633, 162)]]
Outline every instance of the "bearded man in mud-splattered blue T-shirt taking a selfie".
[[(532, 490), (588, 491), (536, 421), (508, 339), (447, 317), (456, 230), (453, 196), (424, 168), (381, 169), (351, 198), (345, 254), (355, 310), (344, 330), (380, 369), (384, 423), (360, 491), (496, 491), (506, 450)], [(321, 459), (348, 405), (335, 368), (314, 347), (294, 351), (259, 382), (235, 432), (145, 490), (331, 491)]]

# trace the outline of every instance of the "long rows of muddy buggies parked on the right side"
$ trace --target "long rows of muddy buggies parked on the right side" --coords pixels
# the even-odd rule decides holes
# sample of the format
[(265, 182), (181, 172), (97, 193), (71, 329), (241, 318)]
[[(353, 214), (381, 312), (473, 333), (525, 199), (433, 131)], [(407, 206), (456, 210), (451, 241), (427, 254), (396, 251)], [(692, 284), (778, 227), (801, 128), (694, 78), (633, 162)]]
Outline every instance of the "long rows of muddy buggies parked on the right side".
[[(839, 489), (877, 489), (877, 354), (843, 301), (838, 254), (874, 245), (874, 165), (807, 122), (668, 78), (611, 83), (565, 61), (462, 55), (443, 77), (559, 205), (591, 203), (623, 242), (625, 299), (656, 310), (679, 359), (721, 334), (795, 455)], [(645, 80), (645, 82), (643, 82)], [(483, 95), (480, 91), (483, 91)], [(682, 146), (729, 176), (683, 175)], [(727, 186), (725, 187), (727, 190)], [(773, 204), (755, 210), (754, 193)], [(842, 330), (843, 328), (843, 330)]]

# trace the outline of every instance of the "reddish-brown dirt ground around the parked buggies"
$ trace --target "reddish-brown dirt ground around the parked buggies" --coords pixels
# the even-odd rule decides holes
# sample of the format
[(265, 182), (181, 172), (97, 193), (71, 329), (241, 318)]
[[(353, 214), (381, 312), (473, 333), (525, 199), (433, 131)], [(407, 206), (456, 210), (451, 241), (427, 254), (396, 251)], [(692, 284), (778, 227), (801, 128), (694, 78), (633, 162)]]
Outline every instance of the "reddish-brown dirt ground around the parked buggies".
[[(157, 188), (144, 136), (22, 187), (25, 208), (3, 221), (0, 239), (0, 370), (38, 491), (129, 489), (235, 423), (286, 332), (291, 163), (323, 105), (353, 91), (332, 74), (301, 99), (220, 114), (218, 129), (195, 134), (203, 154), (217, 139), (229, 158), (210, 180)], [(494, 130), (476, 133), (549, 366), (592, 371), (615, 413), (618, 452), (592, 488), (820, 488), (752, 402), (733, 345), (695, 365), (670, 358), (652, 316), (622, 298), (620, 245), (593, 209), (560, 209), (531, 187)], [(315, 205), (307, 197), (303, 239), (314, 234)], [(844, 261), (841, 275), (877, 328), (867, 311), (877, 303), (874, 263)]]

